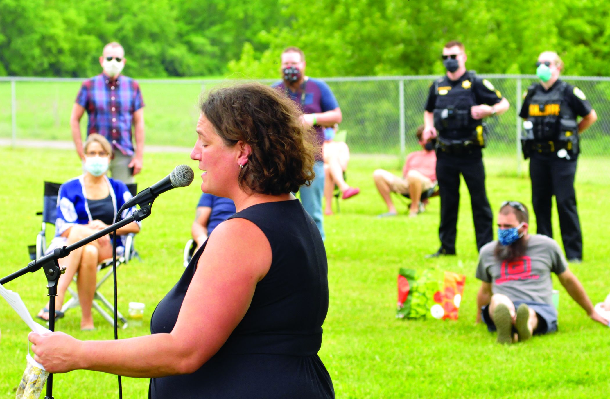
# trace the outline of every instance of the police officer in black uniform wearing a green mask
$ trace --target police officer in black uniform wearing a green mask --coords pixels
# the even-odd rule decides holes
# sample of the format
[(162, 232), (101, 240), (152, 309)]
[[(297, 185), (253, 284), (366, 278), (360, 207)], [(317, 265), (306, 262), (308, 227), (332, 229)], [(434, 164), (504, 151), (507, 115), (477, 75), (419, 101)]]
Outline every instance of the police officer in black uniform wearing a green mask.
[[(553, 237), (551, 198), (555, 196), (565, 256), (583, 259), (583, 238), (576, 209), (574, 175), (580, 134), (597, 120), (583, 91), (559, 79), (563, 63), (556, 52), (545, 51), (536, 62), (540, 83), (528, 87), (519, 116), (523, 155), (529, 160), (532, 204), (537, 233)], [(583, 117), (578, 123), (576, 118)]]

